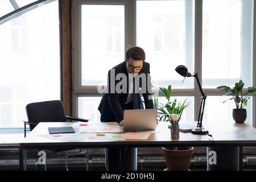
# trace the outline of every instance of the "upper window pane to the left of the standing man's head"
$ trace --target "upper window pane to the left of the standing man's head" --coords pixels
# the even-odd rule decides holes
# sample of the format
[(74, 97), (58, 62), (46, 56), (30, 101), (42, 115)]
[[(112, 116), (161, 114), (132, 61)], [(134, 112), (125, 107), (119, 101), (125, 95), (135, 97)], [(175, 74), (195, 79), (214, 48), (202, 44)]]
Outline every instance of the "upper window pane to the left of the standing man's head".
[(124, 61), (124, 52), (124, 6), (81, 5), (81, 85), (106, 85), (108, 70)]

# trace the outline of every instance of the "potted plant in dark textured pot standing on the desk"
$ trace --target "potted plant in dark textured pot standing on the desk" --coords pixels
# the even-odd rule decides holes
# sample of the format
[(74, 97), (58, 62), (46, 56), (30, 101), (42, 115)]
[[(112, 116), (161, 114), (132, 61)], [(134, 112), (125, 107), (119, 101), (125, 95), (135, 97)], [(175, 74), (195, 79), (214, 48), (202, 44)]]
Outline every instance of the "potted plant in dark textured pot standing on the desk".
[(253, 96), (256, 92), (256, 88), (254, 87), (249, 87), (247, 88), (246, 92), (243, 92), (242, 89), (244, 85), (245, 83), (242, 80), (240, 80), (239, 82), (236, 82), (233, 88), (230, 88), (229, 86), (226, 86), (226, 85), (217, 87), (217, 89), (220, 89), (223, 92), (225, 92), (224, 96), (232, 96), (232, 98), (228, 100), (234, 100), (236, 104), (236, 108), (233, 109), (233, 119), (237, 123), (245, 122), (247, 113), (246, 113), (246, 109), (244, 109), (243, 107), (247, 106), (247, 101), (249, 100), (250, 96)]

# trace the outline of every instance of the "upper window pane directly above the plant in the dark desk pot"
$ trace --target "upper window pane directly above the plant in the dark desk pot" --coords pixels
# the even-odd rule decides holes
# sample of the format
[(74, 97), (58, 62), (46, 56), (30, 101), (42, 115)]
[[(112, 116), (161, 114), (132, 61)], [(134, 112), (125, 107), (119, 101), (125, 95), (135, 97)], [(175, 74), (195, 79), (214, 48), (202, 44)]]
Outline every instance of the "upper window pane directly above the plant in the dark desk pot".
[(253, 1), (203, 1), (203, 87), (252, 85)]

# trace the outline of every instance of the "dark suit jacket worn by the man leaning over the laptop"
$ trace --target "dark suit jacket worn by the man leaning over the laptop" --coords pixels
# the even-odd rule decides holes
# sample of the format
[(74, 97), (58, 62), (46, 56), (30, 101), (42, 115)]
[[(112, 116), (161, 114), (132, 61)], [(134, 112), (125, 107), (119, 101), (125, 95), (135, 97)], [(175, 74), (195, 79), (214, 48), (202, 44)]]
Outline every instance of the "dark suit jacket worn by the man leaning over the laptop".
[[(128, 104), (125, 104), (127, 101), (128, 97), (128, 92), (129, 92), (129, 75), (126, 69), (126, 62), (123, 61), (122, 63), (116, 65), (114, 68), (115, 70), (115, 76), (118, 73), (124, 73), (127, 78), (127, 92), (126, 93), (110, 93), (110, 70), (108, 73), (108, 93), (105, 93), (104, 96), (101, 99), (100, 105), (98, 106), (98, 110), (101, 113), (101, 122), (120, 122), (123, 120), (123, 111), (126, 109), (133, 109), (133, 101), (129, 102)], [(150, 73), (150, 64), (144, 62), (143, 63), (143, 68), (141, 71), (138, 73), (141, 75), (141, 73)], [(150, 85), (147, 86), (146, 93), (143, 93), (143, 98), (144, 98), (144, 104), (146, 109), (153, 109), (154, 104), (152, 99), (148, 99), (151, 96), (151, 78), (148, 76), (146, 77), (147, 83), (150, 83)], [(121, 81), (121, 80), (120, 80)], [(115, 84), (117, 85), (119, 80), (115, 80)], [(142, 87), (142, 80), (140, 79), (139, 81), (139, 88)], [(138, 104), (139, 104), (139, 109), (144, 109), (141, 97), (139, 96), (139, 93), (137, 94), (138, 97)]]

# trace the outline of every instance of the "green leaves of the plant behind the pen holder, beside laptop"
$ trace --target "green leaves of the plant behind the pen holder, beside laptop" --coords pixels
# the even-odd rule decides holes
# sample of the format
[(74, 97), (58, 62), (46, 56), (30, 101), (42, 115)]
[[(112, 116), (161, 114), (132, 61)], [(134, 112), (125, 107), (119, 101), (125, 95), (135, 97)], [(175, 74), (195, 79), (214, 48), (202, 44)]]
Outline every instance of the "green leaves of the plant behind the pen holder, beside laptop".
[(170, 114), (178, 114), (177, 121), (180, 121), (183, 110), (189, 105), (189, 102), (187, 100), (177, 101), (176, 99), (171, 101), (171, 85), (168, 85), (167, 88), (158, 88), (158, 92), (167, 100), (163, 104), (158, 102), (158, 96), (154, 96), (154, 106), (158, 109), (158, 121), (169, 121)]

